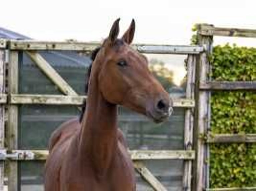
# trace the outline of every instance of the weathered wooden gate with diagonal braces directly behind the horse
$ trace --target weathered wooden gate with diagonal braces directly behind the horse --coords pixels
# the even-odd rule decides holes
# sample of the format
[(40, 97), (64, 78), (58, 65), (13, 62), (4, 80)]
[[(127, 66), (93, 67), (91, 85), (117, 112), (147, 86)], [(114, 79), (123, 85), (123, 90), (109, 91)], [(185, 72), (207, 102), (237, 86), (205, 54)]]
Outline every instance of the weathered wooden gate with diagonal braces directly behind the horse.
[[(8, 190), (19, 190), (18, 161), (45, 160), (47, 150), (20, 150), (18, 148), (19, 105), (81, 105), (84, 95), (76, 91), (40, 55), (39, 51), (80, 51), (89, 53), (99, 44), (83, 42), (38, 42), (27, 40), (1, 40), (0, 43), (0, 190), (3, 190), (4, 172), (8, 177)], [(174, 107), (185, 108), (184, 149), (183, 150), (131, 150), (137, 172), (155, 190), (167, 190), (145, 166), (146, 160), (180, 159), (184, 160), (183, 190), (191, 190), (191, 160), (195, 158), (192, 150), (193, 110), (195, 106), (195, 65), (197, 55), (204, 52), (202, 46), (134, 45), (141, 53), (184, 54), (187, 59), (186, 97), (174, 99)], [(63, 95), (19, 94), (19, 53), (25, 52), (34, 64), (62, 92)], [(8, 70), (5, 70), (5, 67)], [(5, 75), (5, 71), (7, 71)], [(5, 84), (6, 82), (6, 84)], [(5, 112), (7, 111), (7, 112)], [(6, 128), (4, 128), (6, 127)], [(35, 127), (36, 128), (36, 127)], [(4, 136), (6, 132), (6, 136)], [(5, 144), (4, 144), (5, 143)], [(5, 165), (4, 165), (5, 164)], [(7, 170), (4, 168), (8, 167)]]

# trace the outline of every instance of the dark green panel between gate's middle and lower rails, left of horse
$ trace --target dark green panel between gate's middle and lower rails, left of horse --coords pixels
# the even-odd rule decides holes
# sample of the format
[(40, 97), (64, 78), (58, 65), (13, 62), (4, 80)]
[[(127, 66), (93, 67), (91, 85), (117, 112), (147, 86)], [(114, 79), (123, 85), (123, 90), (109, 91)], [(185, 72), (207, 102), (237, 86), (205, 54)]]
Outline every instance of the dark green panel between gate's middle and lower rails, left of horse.
[(47, 149), (51, 133), (64, 121), (79, 116), (76, 106), (19, 107), (19, 149)]

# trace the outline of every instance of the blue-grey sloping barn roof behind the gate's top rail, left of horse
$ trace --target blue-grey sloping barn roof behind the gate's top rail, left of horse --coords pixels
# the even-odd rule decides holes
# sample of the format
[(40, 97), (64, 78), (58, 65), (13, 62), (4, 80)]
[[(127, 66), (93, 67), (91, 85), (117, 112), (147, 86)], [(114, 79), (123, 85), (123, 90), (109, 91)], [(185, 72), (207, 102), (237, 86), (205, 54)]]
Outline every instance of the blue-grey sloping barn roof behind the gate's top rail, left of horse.
[[(8, 29), (0, 27), (0, 38), (2, 39), (14, 39), (14, 40), (31, 40), (31, 38), (10, 31)], [(81, 56), (74, 51), (41, 51), (41, 55), (44, 59), (50, 63), (53, 67), (71, 67), (71, 68), (85, 68), (91, 64), (91, 59), (87, 56)], [(34, 66), (32, 61), (26, 56), (23, 60), (23, 65)]]

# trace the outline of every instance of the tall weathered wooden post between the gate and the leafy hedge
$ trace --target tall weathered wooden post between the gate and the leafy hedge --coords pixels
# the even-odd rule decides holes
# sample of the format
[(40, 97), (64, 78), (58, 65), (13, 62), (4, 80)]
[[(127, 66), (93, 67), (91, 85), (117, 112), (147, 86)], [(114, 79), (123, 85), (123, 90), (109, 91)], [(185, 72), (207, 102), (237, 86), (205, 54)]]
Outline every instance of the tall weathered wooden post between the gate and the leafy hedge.
[[(212, 25), (198, 25), (198, 44), (205, 48), (200, 53), (196, 63), (196, 87), (195, 87), (195, 130), (193, 134), (193, 148), (196, 151), (196, 159), (193, 164), (193, 190), (202, 191), (208, 187), (209, 166), (207, 158), (209, 148), (204, 143), (204, 137), (210, 130), (210, 92), (200, 90), (200, 83), (206, 82), (210, 78), (210, 61), (209, 56), (213, 49), (213, 34), (211, 33)], [(208, 34), (202, 34), (202, 29), (209, 29)]]

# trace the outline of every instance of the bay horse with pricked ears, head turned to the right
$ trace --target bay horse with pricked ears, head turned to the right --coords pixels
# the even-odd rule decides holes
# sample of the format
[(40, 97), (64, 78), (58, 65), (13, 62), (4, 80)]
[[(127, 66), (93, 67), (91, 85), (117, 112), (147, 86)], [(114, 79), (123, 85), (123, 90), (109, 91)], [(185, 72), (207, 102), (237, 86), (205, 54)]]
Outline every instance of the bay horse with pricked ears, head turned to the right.
[(145, 56), (132, 49), (135, 22), (118, 39), (117, 19), (97, 51), (91, 68), (86, 110), (49, 140), (45, 191), (135, 191), (135, 172), (117, 127), (117, 105), (155, 122), (172, 111), (169, 94), (153, 77)]

